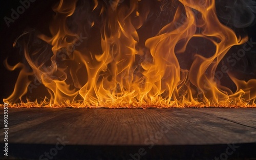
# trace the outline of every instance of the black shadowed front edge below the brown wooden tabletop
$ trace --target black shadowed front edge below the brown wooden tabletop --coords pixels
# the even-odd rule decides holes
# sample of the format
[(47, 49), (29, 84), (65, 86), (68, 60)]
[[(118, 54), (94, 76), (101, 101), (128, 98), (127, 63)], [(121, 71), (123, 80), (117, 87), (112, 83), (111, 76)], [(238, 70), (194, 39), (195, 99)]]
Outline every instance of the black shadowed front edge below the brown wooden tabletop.
[[(2, 146), (3, 144), (1, 144)], [(177, 146), (9, 144), (6, 159), (254, 159), (256, 143)], [(48, 152), (49, 158), (44, 154)], [(51, 155), (52, 152), (53, 154)], [(139, 153), (141, 155), (139, 155)], [(55, 155), (56, 154), (56, 155)], [(3, 155), (1, 155), (3, 158)], [(41, 158), (40, 158), (41, 156)]]

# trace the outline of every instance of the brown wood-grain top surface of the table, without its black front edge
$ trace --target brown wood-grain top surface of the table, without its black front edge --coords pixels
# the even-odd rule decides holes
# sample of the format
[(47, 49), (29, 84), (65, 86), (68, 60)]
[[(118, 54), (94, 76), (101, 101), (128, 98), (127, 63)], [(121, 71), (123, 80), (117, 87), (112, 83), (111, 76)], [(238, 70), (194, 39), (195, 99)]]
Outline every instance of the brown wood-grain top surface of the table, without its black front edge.
[[(219, 145), (224, 151), (228, 144), (256, 143), (256, 108), (9, 108), (8, 120), (8, 143), (16, 150), (47, 150), (59, 139), (73, 147)], [(13, 156), (24, 156), (19, 152)]]

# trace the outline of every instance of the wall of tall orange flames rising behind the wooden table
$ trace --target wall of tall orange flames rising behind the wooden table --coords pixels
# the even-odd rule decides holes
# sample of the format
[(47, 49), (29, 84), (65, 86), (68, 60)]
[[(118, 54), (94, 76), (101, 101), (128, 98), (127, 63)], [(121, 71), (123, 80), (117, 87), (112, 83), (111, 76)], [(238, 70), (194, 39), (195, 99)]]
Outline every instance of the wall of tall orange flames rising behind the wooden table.
[[(30, 31), (17, 39), (26, 63), (5, 61), (20, 73), (4, 102), (14, 107), (254, 107), (256, 79), (242, 80), (220, 64), (248, 37), (220, 22), (215, 3), (61, 0), (53, 8), (50, 34)], [(155, 17), (165, 18), (162, 24), (148, 22), (154, 18), (150, 5), (158, 6)], [(236, 89), (216, 76), (220, 68)]]

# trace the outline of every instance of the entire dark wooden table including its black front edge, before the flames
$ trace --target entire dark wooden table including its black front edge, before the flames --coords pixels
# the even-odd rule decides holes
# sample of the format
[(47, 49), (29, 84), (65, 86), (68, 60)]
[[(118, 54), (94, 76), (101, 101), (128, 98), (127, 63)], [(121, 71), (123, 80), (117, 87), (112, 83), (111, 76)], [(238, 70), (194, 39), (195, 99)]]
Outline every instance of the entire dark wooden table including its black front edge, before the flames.
[[(3, 108), (1, 113), (3, 124)], [(9, 108), (8, 113), (9, 159), (51, 159), (45, 152), (52, 159), (256, 158), (256, 108)]]

